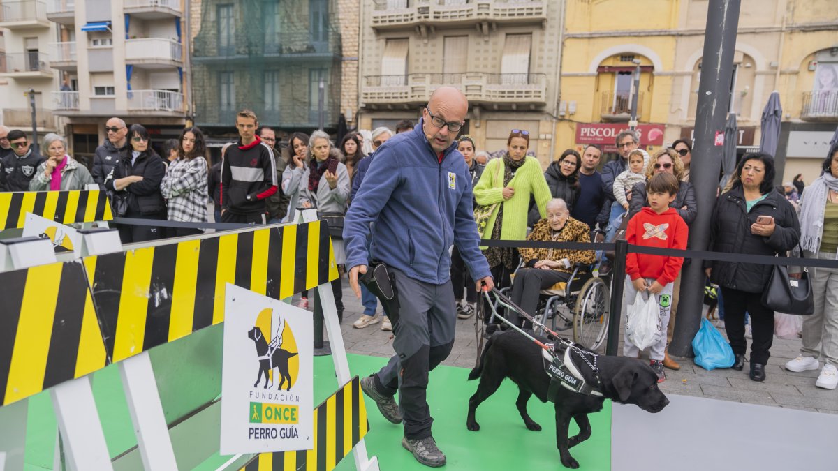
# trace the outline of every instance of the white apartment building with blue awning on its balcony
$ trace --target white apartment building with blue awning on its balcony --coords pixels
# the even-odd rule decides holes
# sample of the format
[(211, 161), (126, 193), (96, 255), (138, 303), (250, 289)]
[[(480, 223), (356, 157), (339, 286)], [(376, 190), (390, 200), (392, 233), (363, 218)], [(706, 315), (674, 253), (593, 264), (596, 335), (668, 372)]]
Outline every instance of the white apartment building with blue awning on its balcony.
[(87, 161), (119, 116), (142, 124), (154, 145), (178, 137), (188, 116), (184, 67), (187, 0), (49, 0), (55, 25), (49, 66), (58, 80), (47, 99), (74, 157)]

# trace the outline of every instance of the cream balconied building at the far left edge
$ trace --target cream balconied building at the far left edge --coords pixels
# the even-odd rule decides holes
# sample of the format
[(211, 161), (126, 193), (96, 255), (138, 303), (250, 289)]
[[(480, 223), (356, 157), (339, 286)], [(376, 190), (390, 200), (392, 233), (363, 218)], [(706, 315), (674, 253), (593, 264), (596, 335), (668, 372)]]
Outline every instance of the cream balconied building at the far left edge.
[(52, 91), (58, 90), (59, 71), (49, 61), (58, 28), (47, 13), (44, 2), (0, 2), (0, 123), (32, 132), (32, 91), (39, 137), (58, 129)]

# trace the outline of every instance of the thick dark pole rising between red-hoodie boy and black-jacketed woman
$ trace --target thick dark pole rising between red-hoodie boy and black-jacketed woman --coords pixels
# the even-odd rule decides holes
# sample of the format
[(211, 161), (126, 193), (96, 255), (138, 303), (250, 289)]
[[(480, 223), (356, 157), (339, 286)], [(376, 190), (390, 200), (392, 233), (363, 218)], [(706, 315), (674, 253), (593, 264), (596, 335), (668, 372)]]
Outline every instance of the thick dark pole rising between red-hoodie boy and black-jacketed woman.
[[(719, 170), (722, 168), (724, 135), (733, 53), (736, 49), (740, 0), (710, 0), (701, 59), (701, 81), (698, 85), (696, 109), (696, 146), (692, 150), (690, 181), (696, 191), (698, 215), (690, 225), (691, 249), (704, 251), (710, 242), (710, 218), (716, 204)], [(675, 318), (670, 354), (691, 355), (692, 338), (701, 323), (705, 274), (703, 261), (693, 259), (681, 270), (680, 300)]]

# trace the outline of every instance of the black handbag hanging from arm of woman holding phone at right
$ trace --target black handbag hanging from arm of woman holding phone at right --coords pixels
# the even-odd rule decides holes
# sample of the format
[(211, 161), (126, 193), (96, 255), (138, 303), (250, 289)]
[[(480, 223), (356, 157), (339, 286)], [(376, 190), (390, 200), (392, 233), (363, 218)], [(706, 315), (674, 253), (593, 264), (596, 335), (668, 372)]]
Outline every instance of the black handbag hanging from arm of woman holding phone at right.
[[(800, 249), (803, 257), (803, 249)], [(763, 292), (763, 306), (778, 313), (810, 316), (815, 313), (809, 270), (804, 267), (800, 278), (789, 277), (789, 269), (774, 265), (768, 286)]]

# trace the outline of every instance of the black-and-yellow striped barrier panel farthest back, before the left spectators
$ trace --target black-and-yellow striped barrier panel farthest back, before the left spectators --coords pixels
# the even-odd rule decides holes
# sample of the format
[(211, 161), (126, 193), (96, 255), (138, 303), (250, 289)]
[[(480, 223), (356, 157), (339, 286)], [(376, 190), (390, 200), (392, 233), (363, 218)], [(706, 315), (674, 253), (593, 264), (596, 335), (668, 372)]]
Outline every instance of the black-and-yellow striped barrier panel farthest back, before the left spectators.
[(113, 220), (107, 194), (98, 189), (0, 193), (0, 230), (22, 228), (26, 213), (60, 224)]

